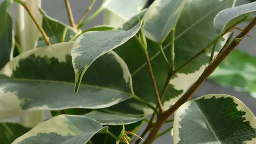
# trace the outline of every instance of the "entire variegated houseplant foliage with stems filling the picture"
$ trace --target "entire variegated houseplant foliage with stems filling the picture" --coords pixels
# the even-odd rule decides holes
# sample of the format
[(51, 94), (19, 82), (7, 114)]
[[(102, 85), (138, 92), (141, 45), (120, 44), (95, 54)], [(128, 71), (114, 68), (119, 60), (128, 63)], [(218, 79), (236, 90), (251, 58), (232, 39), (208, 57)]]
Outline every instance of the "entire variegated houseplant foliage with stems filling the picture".
[[(64, 0), (69, 26), (31, 1), (0, 4), (0, 121), (32, 120), (1, 122), (0, 144), (153, 144), (172, 128), (174, 144), (256, 143), (256, 117), (237, 98), (191, 99), (207, 78), (255, 97), (256, 57), (234, 49), (256, 25), (256, 2), (92, 0), (75, 23)], [(13, 3), (33, 38), (14, 32)], [(125, 23), (83, 28), (105, 10)], [(52, 117), (33, 121), (44, 111)]]

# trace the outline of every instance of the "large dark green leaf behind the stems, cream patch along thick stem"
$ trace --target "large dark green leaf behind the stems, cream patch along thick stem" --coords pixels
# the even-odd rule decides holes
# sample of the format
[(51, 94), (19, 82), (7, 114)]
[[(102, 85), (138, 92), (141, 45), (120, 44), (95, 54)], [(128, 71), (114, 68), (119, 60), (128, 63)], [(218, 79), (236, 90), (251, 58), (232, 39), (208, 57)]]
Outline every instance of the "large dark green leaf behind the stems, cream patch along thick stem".
[[(176, 26), (175, 68), (180, 67), (183, 63), (190, 60), (218, 36), (213, 25), (213, 19), (219, 11), (232, 7), (232, 5), (233, 0), (186, 1)], [(170, 39), (171, 38), (167, 37), (166, 42), (163, 44), (168, 58), (170, 58)], [(219, 47), (220, 45), (218, 45), (218, 48)], [(128, 65), (136, 95), (146, 99), (148, 102), (155, 103), (155, 92), (146, 66), (145, 55), (139, 48), (136, 39), (130, 39), (126, 44), (115, 49), (115, 52), (117, 52)], [(159, 52), (158, 45), (150, 40), (148, 40), (148, 52), (151, 58), (157, 87), (161, 93), (170, 68)], [(177, 72), (174, 79), (170, 81), (169, 88), (163, 99), (165, 108), (169, 108), (173, 105), (198, 79), (210, 60), (209, 55), (209, 53), (201, 54), (201, 56), (191, 61), (191, 63)], [(133, 107), (132, 109), (145, 111), (146, 108), (139, 108), (138, 104), (131, 100), (118, 104), (119, 108), (115, 108), (115, 110), (125, 111), (129, 109), (128, 107)], [(127, 106), (126, 109), (122, 109), (122, 105)], [(129, 113), (130, 112), (133, 112), (133, 110), (129, 110)], [(146, 112), (149, 113), (149, 111)]]

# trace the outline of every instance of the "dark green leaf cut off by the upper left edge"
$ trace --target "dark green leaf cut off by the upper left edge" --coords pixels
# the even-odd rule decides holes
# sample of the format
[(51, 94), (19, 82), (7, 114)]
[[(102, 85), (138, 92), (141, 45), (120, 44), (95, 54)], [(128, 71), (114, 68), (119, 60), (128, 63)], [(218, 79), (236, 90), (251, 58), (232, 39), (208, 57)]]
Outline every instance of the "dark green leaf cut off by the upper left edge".
[(4, 0), (0, 4), (0, 69), (12, 57), (11, 50), (14, 46), (12, 20), (9, 13), (11, 3), (11, 0)]

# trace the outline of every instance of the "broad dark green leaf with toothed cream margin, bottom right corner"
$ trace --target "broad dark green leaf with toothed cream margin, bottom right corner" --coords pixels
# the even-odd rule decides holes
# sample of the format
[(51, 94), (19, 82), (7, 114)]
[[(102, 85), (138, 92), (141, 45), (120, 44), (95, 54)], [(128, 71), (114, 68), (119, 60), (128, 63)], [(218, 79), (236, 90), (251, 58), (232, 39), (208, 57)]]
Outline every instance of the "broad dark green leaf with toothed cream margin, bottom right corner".
[(256, 144), (256, 117), (233, 96), (192, 99), (175, 113), (174, 144)]

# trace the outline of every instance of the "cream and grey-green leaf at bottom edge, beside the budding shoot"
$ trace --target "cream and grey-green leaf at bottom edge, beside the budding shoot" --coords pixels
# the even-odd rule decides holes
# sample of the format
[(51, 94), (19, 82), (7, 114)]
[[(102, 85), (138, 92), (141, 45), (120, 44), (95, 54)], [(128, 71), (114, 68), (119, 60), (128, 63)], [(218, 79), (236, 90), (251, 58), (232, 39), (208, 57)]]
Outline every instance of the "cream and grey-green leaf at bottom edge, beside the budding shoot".
[(107, 129), (91, 118), (60, 115), (35, 126), (11, 144), (86, 144), (93, 135)]

